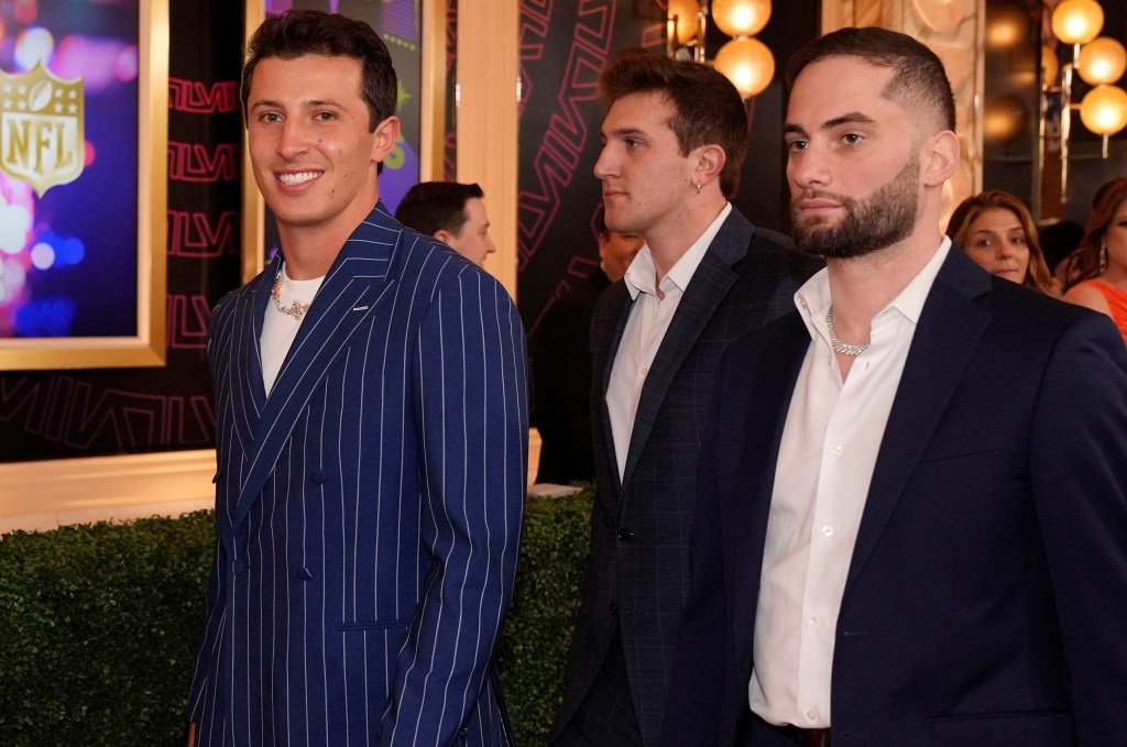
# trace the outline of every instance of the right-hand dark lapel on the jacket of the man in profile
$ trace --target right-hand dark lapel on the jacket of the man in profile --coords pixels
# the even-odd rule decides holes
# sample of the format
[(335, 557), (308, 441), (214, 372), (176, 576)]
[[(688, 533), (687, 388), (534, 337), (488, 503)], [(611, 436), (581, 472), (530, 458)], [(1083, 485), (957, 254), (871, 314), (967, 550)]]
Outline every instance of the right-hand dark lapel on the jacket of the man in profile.
[[(731, 266), (747, 255), (747, 246), (752, 238), (752, 224), (735, 208), (725, 220), (720, 231), (712, 239), (708, 251), (701, 258), (701, 264), (693, 273), (692, 281), (677, 304), (669, 329), (662, 340), (654, 364), (646, 376), (641, 395), (638, 399), (638, 411), (635, 415), (633, 429), (630, 435), (630, 450), (627, 455), (625, 469), (622, 472), (622, 484), (630, 483), (641, 452), (649, 439), (662, 410), (665, 395), (681, 370), (681, 364), (696, 345), (704, 327), (718, 305), (736, 282), (736, 273)], [(622, 319), (625, 326), (625, 319)], [(621, 340), (621, 330), (615, 340)], [(618, 348), (618, 341), (614, 345)], [(614, 355), (612, 353), (611, 364)], [(607, 380), (610, 370), (606, 371)], [(605, 392), (605, 388), (603, 389)]]

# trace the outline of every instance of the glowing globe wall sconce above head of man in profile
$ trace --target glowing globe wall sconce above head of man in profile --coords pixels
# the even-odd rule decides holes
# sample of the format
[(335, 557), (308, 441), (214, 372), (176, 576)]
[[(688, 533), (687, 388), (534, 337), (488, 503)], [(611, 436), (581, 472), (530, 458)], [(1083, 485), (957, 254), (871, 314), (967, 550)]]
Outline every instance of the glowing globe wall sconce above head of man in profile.
[(771, 85), (774, 57), (754, 38), (771, 18), (771, 0), (669, 0), (666, 10), (666, 51), (671, 57), (707, 63), (704, 34), (708, 17), (733, 37), (720, 47), (712, 66), (722, 72), (745, 99)]

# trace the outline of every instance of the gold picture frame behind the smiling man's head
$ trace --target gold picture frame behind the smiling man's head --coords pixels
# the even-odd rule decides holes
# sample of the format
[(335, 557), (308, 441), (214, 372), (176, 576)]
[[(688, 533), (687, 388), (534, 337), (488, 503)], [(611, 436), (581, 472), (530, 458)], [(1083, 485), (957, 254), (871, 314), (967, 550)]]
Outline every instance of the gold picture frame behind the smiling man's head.
[[(246, 41), (266, 19), (266, 0), (246, 0)], [(446, 0), (419, 0), (420, 95), (409, 105), (419, 107), (419, 179), (442, 179), (446, 108)], [(242, 132), (242, 281), (249, 282), (266, 264), (266, 204), (255, 184), (246, 127)]]

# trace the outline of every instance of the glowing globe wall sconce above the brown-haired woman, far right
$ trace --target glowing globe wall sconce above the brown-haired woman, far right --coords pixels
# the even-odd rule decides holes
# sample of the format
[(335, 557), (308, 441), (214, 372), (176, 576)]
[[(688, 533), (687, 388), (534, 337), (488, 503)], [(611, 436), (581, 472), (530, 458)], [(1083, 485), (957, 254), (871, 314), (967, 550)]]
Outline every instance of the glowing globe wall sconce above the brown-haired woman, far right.
[[(1048, 95), (1059, 95), (1061, 101), (1061, 204), (1068, 196), (1068, 146), (1072, 110), (1080, 110), (1080, 121), (1091, 132), (1103, 137), (1102, 155), (1108, 158), (1108, 139), (1127, 126), (1127, 91), (1115, 86), (1127, 70), (1127, 50), (1113, 38), (1099, 36), (1103, 28), (1103, 8), (1097, 0), (1064, 0), (1053, 10), (1053, 33), (1072, 45), (1072, 62), (1059, 64), (1056, 53), (1045, 47), (1041, 69), (1040, 139), (1044, 162)], [(1061, 85), (1056, 86), (1056, 72)], [(1079, 74), (1093, 88), (1077, 105), (1073, 103), (1073, 74)]]

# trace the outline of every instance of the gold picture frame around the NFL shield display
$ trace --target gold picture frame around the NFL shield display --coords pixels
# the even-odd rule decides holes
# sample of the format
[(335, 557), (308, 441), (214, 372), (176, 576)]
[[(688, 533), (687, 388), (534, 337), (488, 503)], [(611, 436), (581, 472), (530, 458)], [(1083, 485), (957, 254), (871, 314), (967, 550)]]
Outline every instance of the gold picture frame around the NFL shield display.
[[(137, 20), (136, 334), (122, 337), (0, 338), (0, 371), (165, 365), (168, 0), (141, 0), (137, 3)], [(117, 210), (114, 205), (99, 207)], [(106, 299), (106, 303), (113, 302), (113, 299)]]

